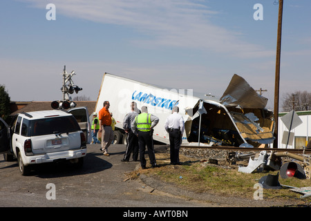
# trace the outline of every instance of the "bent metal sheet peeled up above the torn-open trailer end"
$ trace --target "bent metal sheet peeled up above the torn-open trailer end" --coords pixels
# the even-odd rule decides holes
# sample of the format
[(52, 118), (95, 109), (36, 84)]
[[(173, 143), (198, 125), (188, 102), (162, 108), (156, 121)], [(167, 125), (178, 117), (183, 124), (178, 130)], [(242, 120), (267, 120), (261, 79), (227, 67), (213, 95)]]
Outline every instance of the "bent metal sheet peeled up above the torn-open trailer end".
[(267, 98), (258, 95), (243, 77), (234, 75), (220, 97), (220, 104), (224, 106), (241, 106), (242, 108), (265, 108)]

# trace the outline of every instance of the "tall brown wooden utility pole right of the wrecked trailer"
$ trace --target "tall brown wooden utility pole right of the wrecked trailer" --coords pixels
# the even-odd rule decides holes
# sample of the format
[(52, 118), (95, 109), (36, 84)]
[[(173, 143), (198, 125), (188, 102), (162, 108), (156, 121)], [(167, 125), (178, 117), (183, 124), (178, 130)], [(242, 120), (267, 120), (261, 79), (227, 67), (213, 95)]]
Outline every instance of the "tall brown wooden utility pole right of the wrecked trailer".
[(280, 61), (281, 61), (281, 35), (282, 35), (283, 0), (279, 0), (278, 35), (276, 43), (276, 66), (275, 66), (275, 87), (274, 87), (274, 142), (273, 148), (278, 148), (279, 138), (279, 93), (280, 93)]

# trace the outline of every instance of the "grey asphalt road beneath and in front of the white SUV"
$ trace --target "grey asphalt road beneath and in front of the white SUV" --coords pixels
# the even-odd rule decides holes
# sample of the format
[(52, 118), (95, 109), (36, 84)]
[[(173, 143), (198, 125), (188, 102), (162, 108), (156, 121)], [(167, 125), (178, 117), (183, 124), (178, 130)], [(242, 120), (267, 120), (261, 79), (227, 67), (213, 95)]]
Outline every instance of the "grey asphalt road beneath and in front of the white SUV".
[[(1, 207), (198, 207), (219, 206), (185, 200), (154, 190), (141, 180), (126, 180), (139, 162), (121, 162), (125, 146), (112, 145), (109, 157), (100, 144), (88, 145), (82, 169), (69, 164), (39, 164), (30, 175), (19, 173), (17, 162), (0, 156)], [(149, 158), (147, 157), (147, 160)]]

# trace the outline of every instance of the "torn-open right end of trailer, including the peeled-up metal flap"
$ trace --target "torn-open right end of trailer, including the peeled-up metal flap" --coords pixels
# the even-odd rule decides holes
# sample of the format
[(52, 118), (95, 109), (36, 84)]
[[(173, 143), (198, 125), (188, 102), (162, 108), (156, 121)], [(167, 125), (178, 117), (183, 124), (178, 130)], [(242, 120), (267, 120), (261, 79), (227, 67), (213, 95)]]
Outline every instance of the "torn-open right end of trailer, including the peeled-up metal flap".
[[(200, 125), (200, 142), (241, 147), (267, 147), (273, 143), (274, 115), (265, 108), (267, 98), (258, 95), (243, 77), (232, 77), (219, 102), (205, 100), (203, 104), (207, 113), (201, 119), (192, 119), (191, 126), (194, 135)], [(196, 139), (189, 135), (190, 142)]]

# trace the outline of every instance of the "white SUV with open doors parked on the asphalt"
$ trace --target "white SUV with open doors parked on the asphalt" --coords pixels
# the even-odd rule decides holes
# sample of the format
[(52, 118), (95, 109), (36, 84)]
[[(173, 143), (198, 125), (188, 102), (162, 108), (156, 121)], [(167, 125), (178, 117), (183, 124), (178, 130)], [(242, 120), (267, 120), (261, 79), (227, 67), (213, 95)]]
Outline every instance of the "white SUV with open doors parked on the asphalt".
[[(82, 118), (89, 126), (87, 109), (85, 115)], [(22, 175), (29, 172), (31, 164), (70, 160), (82, 166), (89, 136), (79, 124), (83, 122), (61, 110), (20, 113), (11, 126), (1, 121), (0, 153), (7, 161), (17, 157)]]

